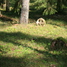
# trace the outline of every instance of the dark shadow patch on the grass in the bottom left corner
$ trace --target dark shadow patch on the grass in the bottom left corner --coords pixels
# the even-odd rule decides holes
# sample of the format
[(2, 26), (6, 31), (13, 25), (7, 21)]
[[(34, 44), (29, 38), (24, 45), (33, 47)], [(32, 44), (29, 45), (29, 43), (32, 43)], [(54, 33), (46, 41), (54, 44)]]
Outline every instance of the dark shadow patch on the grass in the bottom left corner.
[(0, 67), (29, 67), (27, 66), (28, 60), (24, 57), (0, 57)]

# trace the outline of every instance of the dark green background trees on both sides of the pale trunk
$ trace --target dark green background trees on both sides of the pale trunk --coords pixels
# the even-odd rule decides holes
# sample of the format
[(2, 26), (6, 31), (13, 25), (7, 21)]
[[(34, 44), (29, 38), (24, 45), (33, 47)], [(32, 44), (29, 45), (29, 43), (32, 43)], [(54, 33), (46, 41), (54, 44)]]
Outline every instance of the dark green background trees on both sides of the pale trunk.
[[(23, 1), (23, 0), (22, 0)], [(51, 15), (60, 13), (65, 7), (67, 7), (67, 0), (30, 0), (31, 6), (33, 6), (36, 10), (44, 9), (44, 15)], [(0, 0), (0, 6), (6, 4), (6, 11), (12, 7), (14, 12), (20, 13), (21, 8), (21, 0)]]

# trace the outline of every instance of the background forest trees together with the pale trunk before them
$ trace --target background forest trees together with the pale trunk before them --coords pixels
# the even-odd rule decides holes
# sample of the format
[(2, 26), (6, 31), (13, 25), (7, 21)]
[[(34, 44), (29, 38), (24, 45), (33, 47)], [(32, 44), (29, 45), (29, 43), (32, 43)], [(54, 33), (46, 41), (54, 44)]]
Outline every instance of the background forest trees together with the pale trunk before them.
[[(0, 8), (20, 15), (20, 23), (28, 23), (29, 0), (0, 0)], [(12, 9), (10, 9), (12, 8)], [(30, 0), (30, 8), (42, 10), (43, 15), (62, 13), (67, 8), (67, 0)]]

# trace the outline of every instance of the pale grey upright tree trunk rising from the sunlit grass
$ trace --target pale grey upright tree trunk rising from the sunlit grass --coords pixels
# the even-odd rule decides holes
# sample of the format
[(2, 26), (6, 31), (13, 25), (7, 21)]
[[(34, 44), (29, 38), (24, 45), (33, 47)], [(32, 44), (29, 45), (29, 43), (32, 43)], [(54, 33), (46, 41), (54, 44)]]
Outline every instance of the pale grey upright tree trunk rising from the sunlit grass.
[(30, 0), (22, 0), (20, 24), (28, 24), (28, 18), (29, 18), (29, 1)]

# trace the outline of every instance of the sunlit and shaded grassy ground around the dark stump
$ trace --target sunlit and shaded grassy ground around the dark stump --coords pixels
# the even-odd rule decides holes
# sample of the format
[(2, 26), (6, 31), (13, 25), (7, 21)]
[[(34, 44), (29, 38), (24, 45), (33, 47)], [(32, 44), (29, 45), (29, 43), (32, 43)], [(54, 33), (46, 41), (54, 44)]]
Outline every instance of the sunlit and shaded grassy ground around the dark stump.
[(67, 50), (50, 50), (59, 37), (67, 43), (64, 21), (49, 19), (45, 26), (0, 21), (0, 67), (67, 67)]

